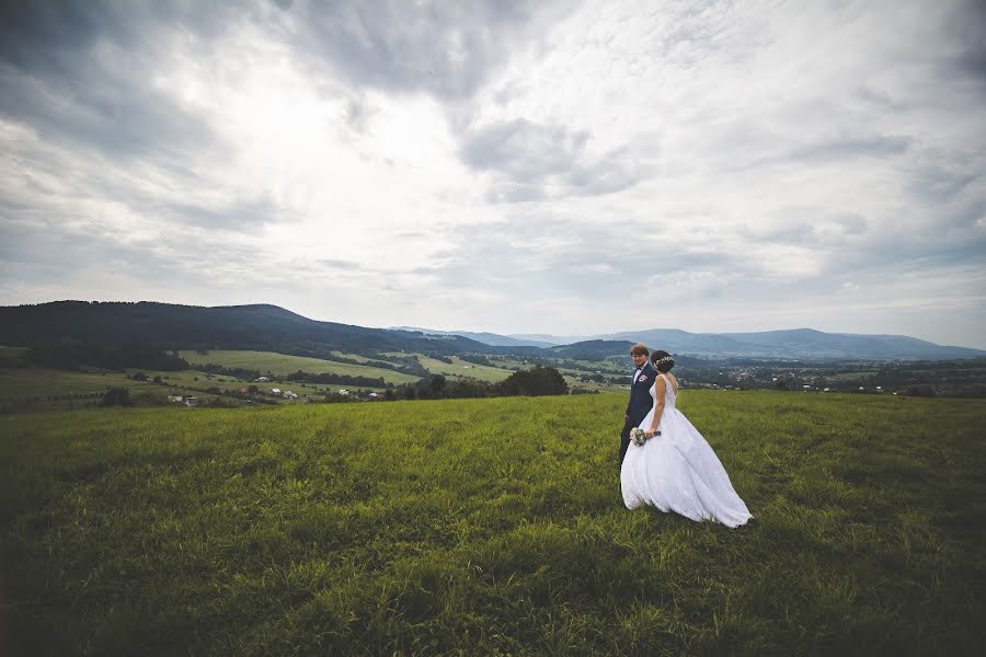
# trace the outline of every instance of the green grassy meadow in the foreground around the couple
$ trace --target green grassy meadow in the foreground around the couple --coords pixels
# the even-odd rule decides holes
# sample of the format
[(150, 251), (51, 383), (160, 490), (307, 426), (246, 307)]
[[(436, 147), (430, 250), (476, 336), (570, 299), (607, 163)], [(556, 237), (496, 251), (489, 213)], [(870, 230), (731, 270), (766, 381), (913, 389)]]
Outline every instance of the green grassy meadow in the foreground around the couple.
[(3, 418), (8, 654), (981, 653), (986, 403), (684, 391), (736, 530), (622, 508), (624, 404)]

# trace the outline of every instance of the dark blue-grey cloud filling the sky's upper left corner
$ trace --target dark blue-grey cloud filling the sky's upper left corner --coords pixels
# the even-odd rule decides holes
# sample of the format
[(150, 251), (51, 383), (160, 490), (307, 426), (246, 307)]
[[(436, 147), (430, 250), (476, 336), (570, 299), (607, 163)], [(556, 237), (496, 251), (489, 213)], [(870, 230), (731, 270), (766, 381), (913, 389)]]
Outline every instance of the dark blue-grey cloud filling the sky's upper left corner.
[(124, 160), (215, 146), (202, 120), (151, 80), (169, 47), (162, 31), (211, 36), (232, 18), (179, 2), (5, 3), (0, 113), (47, 140)]

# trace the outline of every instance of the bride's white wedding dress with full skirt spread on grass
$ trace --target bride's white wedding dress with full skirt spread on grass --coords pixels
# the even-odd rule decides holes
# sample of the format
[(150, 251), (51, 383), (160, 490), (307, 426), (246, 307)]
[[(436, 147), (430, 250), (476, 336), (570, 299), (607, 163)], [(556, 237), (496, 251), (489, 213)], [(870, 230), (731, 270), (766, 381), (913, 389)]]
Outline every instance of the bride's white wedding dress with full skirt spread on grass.
[[(655, 436), (642, 446), (630, 443), (620, 470), (623, 504), (628, 509), (652, 505), (692, 520), (715, 520), (738, 527), (753, 518), (733, 489), (730, 476), (712, 448), (688, 418), (675, 408), (675, 393), (664, 374), (664, 413)], [(656, 395), (655, 384), (651, 397)], [(649, 429), (654, 408), (640, 423)]]

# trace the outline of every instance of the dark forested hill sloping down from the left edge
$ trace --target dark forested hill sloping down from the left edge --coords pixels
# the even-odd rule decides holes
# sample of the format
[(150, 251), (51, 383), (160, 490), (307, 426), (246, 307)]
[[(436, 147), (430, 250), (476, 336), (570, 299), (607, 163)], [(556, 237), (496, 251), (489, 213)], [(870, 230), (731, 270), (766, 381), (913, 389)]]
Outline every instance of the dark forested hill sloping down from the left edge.
[(0, 345), (56, 342), (160, 349), (256, 349), (284, 354), (496, 350), (475, 341), (318, 322), (267, 304), (203, 308), (140, 301), (56, 301), (0, 308)]

